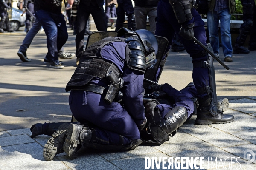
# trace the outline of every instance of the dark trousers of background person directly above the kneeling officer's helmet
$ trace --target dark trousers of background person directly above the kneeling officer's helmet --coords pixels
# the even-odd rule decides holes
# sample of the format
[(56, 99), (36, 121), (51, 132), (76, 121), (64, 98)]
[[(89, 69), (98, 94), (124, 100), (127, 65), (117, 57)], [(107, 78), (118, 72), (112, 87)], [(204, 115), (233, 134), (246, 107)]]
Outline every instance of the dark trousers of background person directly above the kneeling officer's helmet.
[(125, 15), (127, 16), (128, 28), (133, 28), (134, 7), (131, 0), (117, 0), (118, 8), (116, 9), (116, 31), (123, 27)]

